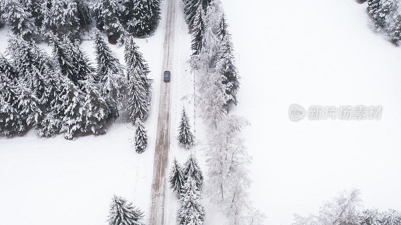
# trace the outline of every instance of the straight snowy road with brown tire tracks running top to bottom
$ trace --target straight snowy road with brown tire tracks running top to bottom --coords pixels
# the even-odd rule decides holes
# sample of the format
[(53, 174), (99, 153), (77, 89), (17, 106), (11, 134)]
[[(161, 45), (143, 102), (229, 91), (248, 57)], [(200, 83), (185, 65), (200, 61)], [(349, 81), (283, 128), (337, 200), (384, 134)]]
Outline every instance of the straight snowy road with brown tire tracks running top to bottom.
[[(166, 0), (166, 23), (164, 27), (163, 64), (162, 71), (172, 70), (174, 50), (174, 21), (176, 0)], [(171, 79), (174, 74), (171, 73)], [(163, 79), (160, 74), (160, 79)], [(170, 84), (160, 82), (160, 97), (156, 131), (156, 145), (153, 162), (153, 180), (150, 203), (149, 223), (165, 224), (164, 206), (166, 191), (166, 171), (168, 165), (168, 150), (170, 148)]]

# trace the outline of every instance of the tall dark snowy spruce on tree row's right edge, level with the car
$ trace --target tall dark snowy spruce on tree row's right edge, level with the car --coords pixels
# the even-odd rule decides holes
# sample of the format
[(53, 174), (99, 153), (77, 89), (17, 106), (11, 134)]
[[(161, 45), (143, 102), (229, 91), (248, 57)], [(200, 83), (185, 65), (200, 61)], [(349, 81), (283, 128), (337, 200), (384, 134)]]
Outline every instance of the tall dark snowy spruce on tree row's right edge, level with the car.
[(228, 33), (223, 37), (220, 49), (217, 52), (216, 70), (225, 76), (223, 84), (226, 85), (226, 93), (229, 96), (225, 106), (228, 109), (230, 104), (237, 105), (237, 92), (240, 87), (240, 77), (235, 65), (231, 35)]

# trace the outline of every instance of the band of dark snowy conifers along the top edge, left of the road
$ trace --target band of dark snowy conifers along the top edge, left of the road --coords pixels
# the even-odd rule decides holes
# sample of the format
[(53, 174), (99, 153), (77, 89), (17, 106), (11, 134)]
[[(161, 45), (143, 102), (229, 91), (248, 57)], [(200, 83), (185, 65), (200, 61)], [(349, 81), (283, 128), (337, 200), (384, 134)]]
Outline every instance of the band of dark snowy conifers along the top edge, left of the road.
[(151, 35), (160, 19), (161, 0), (1, 0), (3, 25), (25, 40), (49, 40), (53, 35), (79, 39), (91, 24), (110, 42), (129, 35)]

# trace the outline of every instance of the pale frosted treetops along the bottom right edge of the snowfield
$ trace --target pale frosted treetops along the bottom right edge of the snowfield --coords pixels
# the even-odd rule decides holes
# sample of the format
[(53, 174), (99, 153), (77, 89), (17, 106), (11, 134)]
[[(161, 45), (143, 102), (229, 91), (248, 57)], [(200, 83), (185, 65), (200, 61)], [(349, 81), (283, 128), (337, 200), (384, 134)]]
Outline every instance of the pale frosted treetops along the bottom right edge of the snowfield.
[(401, 211), (377, 208), (364, 209), (359, 189), (343, 190), (320, 206), (317, 215), (300, 216), (294, 213), (295, 225), (398, 225)]

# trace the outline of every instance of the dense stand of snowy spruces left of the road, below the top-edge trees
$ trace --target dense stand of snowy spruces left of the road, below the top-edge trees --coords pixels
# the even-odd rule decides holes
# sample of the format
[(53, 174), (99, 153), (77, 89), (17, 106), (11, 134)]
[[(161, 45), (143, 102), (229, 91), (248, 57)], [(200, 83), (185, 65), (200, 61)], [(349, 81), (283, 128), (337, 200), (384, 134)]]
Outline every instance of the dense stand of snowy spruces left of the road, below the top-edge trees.
[(35, 127), (41, 137), (102, 134), (123, 110), (135, 123), (135, 149), (142, 152), (152, 80), (133, 38), (125, 44), (125, 67), (100, 31), (94, 37), (97, 67), (78, 42), (56, 35), (50, 42), (52, 56), (33, 40), (10, 36), (11, 60), (0, 54), (0, 133), (14, 136)]

